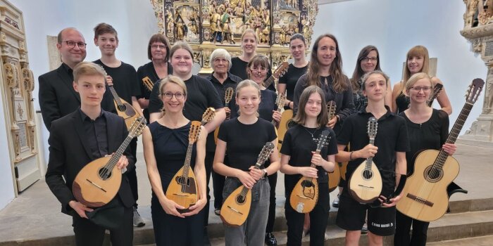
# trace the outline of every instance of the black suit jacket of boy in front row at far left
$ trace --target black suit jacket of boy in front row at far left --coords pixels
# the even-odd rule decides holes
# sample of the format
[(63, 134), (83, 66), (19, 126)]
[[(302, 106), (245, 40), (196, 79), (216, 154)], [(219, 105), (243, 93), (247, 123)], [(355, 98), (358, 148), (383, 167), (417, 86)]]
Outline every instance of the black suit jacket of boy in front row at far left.
[[(108, 153), (114, 153), (127, 137), (128, 131), (122, 117), (104, 111), (108, 134)], [(56, 119), (51, 124), (49, 143), (49, 162), (46, 170), (46, 183), (58, 201), (61, 202), (61, 211), (71, 214), (73, 209), (68, 202), (75, 200), (72, 193), (72, 183), (79, 171), (93, 159), (87, 144), (86, 132), (82, 125), (80, 112), (74, 112)], [(130, 148), (124, 153), (128, 159), (127, 170), (135, 169), (135, 157), (130, 154)], [(125, 174), (122, 177), (118, 190), (123, 205), (132, 207), (135, 204), (130, 184)]]

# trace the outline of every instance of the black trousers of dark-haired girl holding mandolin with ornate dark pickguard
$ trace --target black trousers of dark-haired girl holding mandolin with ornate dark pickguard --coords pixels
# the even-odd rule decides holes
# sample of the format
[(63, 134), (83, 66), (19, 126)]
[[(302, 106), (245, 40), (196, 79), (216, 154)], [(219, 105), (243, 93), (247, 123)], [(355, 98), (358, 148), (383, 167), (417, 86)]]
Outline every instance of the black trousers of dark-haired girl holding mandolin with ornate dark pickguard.
[[(289, 194), (286, 194), (287, 245), (301, 246), (305, 214), (296, 212), (289, 204), (291, 190), (289, 190)], [(329, 185), (327, 183), (318, 183), (318, 202), (310, 212), (310, 245), (324, 245), (329, 210)]]

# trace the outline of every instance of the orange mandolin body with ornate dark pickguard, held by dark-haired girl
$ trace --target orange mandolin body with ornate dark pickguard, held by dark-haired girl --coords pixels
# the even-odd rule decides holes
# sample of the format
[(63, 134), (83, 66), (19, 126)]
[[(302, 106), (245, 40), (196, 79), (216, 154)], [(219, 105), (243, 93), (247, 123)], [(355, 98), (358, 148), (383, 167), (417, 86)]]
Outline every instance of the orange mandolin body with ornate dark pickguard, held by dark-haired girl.
[(318, 202), (318, 182), (317, 179), (301, 177), (294, 186), (289, 204), (299, 213), (309, 213)]

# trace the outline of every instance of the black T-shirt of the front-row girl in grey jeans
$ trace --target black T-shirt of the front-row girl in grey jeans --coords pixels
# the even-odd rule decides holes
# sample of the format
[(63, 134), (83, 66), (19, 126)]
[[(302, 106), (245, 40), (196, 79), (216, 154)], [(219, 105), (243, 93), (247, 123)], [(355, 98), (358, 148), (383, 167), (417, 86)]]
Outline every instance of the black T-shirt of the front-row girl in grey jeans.
[(254, 124), (243, 124), (235, 118), (221, 124), (218, 138), (227, 143), (227, 165), (248, 171), (249, 167), (256, 164), (263, 145), (272, 142), (277, 136), (274, 125), (265, 119), (259, 118)]

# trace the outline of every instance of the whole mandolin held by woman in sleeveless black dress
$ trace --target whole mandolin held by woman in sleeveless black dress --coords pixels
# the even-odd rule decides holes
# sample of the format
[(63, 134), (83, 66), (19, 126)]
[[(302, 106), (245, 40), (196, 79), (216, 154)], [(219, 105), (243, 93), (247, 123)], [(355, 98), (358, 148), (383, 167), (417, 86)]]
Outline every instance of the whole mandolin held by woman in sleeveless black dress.
[(190, 160), (192, 159), (194, 143), (199, 139), (201, 125), (201, 122), (198, 121), (190, 123), (185, 163), (173, 176), (166, 190), (166, 198), (173, 200), (177, 205), (185, 207), (185, 209), (177, 209), (178, 212), (188, 212), (188, 208), (197, 201), (197, 191), (199, 189), (197, 188), (194, 171), (190, 168)]

